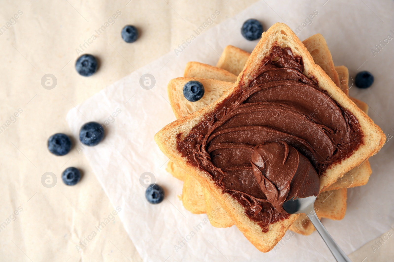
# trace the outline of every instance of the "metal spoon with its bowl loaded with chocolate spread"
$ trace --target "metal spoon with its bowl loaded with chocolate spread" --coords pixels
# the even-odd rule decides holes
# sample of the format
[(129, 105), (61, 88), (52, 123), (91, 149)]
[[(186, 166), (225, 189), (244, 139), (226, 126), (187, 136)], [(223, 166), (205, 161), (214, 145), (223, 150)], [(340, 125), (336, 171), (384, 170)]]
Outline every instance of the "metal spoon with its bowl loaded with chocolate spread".
[(284, 141), (253, 148), (253, 174), (268, 202), (280, 213), (305, 213), (338, 262), (351, 262), (314, 211), (320, 180), (310, 161)]

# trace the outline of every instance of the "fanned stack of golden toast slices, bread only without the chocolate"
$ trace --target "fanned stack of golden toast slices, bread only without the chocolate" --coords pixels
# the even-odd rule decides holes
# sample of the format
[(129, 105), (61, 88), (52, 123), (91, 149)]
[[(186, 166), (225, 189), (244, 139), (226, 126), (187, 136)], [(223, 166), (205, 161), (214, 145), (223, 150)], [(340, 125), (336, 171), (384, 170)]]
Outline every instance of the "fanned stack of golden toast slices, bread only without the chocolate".
[[(320, 178), (320, 194), (315, 202), (315, 211), (320, 218), (341, 220), (346, 213), (347, 188), (365, 185), (372, 173), (368, 158), (375, 154), (385, 141), (378, 126), (366, 116), (368, 105), (349, 97), (349, 72), (346, 66), (335, 66), (327, 43), (317, 34), (301, 42), (285, 24), (277, 23), (267, 32), (254, 49), (248, 53), (234, 46), (227, 46), (216, 66), (200, 62), (188, 62), (184, 77), (172, 79), (167, 87), (169, 101), (177, 121), (167, 125), (156, 134), (155, 139), (162, 151), (170, 158), (167, 171), (184, 181), (180, 200), (184, 207), (194, 214), (206, 213), (214, 227), (237, 225), (240, 231), (260, 251), (267, 252), (275, 246), (287, 229), (302, 235), (310, 235), (315, 229), (305, 214), (291, 215), (290, 218), (270, 225), (268, 233), (261, 232), (253, 221), (242, 216), (230, 195), (223, 194), (210, 184), (195, 167), (179, 156), (173, 137), (177, 133), (187, 134), (201, 116), (212, 111), (223, 97), (228, 97), (240, 88), (253, 74), (253, 66), (270, 46), (290, 47), (300, 55), (305, 64), (305, 75), (316, 77), (319, 88), (326, 90), (335, 101), (348, 108), (359, 120), (364, 132), (363, 150), (357, 150), (350, 159), (327, 169)], [(204, 86), (204, 96), (197, 102), (185, 99), (182, 93), (188, 81), (199, 81)], [(208, 180), (208, 181), (206, 181)], [(260, 232), (259, 232), (260, 231)]]

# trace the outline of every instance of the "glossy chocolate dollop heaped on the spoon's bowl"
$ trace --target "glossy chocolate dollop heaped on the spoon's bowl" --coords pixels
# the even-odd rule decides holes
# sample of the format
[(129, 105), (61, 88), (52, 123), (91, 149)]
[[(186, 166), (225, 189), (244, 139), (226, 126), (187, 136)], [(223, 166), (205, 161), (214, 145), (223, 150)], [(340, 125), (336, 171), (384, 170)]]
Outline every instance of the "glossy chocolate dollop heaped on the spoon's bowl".
[(279, 213), (286, 214), (282, 208), (285, 200), (319, 194), (320, 180), (316, 170), (305, 156), (286, 142), (256, 145), (251, 165), (261, 191)]

